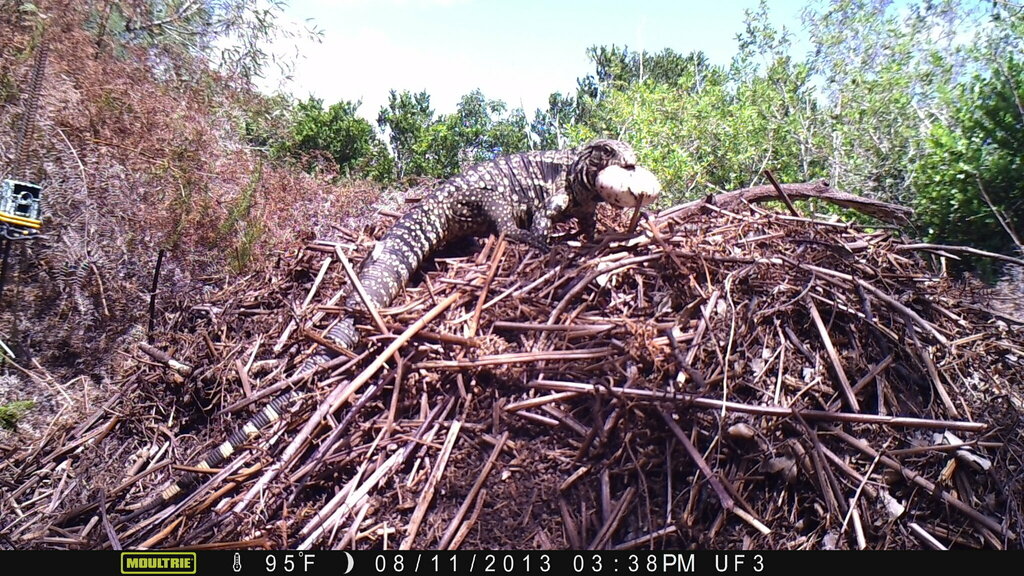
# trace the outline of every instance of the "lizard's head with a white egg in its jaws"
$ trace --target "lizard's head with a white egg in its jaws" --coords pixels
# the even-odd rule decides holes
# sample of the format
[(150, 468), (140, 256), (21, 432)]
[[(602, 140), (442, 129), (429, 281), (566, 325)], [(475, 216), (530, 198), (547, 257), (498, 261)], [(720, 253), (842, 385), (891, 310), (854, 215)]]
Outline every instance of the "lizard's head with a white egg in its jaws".
[(662, 192), (654, 174), (637, 166), (633, 147), (620, 140), (599, 139), (584, 147), (571, 175), (577, 186), (618, 208), (646, 206)]

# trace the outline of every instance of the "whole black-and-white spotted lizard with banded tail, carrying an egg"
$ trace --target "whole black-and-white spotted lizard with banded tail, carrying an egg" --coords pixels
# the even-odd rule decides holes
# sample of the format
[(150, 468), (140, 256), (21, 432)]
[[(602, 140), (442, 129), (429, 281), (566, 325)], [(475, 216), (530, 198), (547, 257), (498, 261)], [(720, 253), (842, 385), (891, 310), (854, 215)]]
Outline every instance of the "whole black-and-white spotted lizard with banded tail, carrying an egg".
[[(399, 218), (364, 262), (359, 282), (374, 306), (387, 306), (423, 260), (446, 242), (504, 233), (509, 240), (547, 251), (553, 222), (574, 217), (581, 232), (590, 236), (599, 202), (620, 207), (644, 205), (659, 192), (657, 179), (637, 166), (633, 149), (618, 140), (599, 139), (581, 149), (496, 158), (444, 181)], [(364, 307), (354, 290), (346, 306)], [(354, 347), (359, 338), (351, 318), (338, 322), (327, 336), (346, 348)], [(297, 373), (312, 371), (330, 358), (331, 353), (322, 347)], [(195, 467), (220, 465), (260, 429), (278, 420), (297, 399), (294, 390), (276, 397)], [(199, 475), (187, 474), (136, 509), (152, 509), (199, 480)]]

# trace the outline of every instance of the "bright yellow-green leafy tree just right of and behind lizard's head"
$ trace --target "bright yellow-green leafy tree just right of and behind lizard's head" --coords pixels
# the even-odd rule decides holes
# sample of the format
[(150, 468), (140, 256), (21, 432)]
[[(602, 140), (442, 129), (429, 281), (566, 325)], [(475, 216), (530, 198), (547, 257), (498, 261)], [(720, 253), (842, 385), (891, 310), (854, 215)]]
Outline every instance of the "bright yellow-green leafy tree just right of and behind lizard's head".
[(764, 4), (745, 24), (728, 68), (699, 51), (592, 48), (592, 78), (603, 96), (570, 132), (633, 142), (660, 178), (666, 202), (698, 187), (749, 186), (765, 168), (787, 180), (821, 175), (810, 71), (787, 54), (788, 34), (771, 25)]

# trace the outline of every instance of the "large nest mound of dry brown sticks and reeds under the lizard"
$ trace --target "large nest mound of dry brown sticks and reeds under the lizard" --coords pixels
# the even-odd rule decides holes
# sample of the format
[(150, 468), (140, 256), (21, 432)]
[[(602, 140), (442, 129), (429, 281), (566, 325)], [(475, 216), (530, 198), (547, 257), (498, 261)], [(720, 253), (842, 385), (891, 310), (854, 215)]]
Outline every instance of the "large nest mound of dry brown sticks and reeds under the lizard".
[[(387, 218), (181, 302), (123, 355), (102, 406), (5, 448), (0, 535), (1021, 548), (1024, 324), (999, 293), (938, 275), (952, 247), (723, 206), (548, 254), (455, 247), (379, 321), (358, 317), (358, 354), (311, 377), (290, 375), (350, 314), (351, 269)], [(602, 230), (628, 216), (602, 212)], [(289, 386), (301, 408), (183, 497), (130, 513)]]

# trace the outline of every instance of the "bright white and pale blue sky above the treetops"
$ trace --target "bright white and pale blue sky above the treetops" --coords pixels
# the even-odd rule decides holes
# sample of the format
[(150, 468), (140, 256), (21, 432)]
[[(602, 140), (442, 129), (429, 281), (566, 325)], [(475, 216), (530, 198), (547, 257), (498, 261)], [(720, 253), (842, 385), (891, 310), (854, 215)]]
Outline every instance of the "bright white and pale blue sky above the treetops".
[[(770, 0), (776, 27), (800, 29), (806, 2)], [(307, 20), (319, 42), (281, 41), (291, 53), (291, 80), (268, 78), (263, 89), (325, 105), (360, 100), (360, 116), (376, 122), (391, 89), (426, 90), (438, 114), (479, 88), (527, 117), (546, 109), (554, 91), (571, 93), (593, 71), (586, 49), (627, 45), (656, 52), (703, 50), (728, 65), (743, 11), (758, 0), (290, 0), (283, 24)]]

